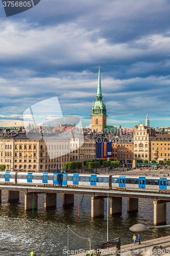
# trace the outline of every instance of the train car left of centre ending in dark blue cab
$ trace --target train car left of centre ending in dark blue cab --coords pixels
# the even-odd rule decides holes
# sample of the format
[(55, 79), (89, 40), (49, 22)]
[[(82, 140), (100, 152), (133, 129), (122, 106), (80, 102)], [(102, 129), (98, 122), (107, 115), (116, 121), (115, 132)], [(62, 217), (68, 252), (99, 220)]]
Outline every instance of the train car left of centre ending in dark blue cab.
[(18, 173), (18, 184), (61, 185), (63, 175), (60, 173)]

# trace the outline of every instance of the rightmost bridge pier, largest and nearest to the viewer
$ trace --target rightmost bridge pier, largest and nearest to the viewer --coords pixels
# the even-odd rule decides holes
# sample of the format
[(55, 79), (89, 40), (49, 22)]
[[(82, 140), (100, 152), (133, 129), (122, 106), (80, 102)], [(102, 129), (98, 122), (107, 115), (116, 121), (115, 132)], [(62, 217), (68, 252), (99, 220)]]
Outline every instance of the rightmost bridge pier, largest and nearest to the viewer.
[(154, 204), (154, 225), (166, 224), (166, 201), (156, 200)]

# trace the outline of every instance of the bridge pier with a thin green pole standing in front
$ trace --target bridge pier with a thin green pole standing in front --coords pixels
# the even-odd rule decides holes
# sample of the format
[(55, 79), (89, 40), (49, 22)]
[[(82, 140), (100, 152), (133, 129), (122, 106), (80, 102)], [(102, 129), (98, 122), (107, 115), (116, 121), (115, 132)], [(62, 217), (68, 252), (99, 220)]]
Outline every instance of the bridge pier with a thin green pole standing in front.
[(26, 192), (25, 194), (25, 210), (33, 209), (34, 199), (34, 210), (38, 208), (38, 195), (35, 192)]

